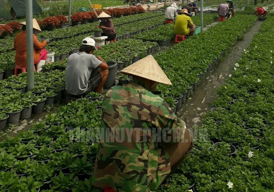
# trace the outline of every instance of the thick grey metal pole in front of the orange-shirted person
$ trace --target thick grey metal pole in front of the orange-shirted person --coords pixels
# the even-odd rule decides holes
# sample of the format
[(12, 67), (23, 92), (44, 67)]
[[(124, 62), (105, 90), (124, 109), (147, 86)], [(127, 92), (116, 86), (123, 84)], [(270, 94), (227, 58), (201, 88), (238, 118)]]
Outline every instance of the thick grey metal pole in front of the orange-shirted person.
[(26, 33), (27, 33), (27, 80), (28, 80), (28, 91), (30, 91), (34, 87), (32, 0), (26, 0)]

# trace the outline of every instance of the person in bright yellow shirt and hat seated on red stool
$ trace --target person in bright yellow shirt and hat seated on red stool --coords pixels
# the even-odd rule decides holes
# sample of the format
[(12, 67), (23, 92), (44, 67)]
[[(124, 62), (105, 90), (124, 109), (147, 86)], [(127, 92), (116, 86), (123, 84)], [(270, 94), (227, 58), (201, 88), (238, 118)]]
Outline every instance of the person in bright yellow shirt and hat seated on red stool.
[(190, 14), (187, 9), (182, 9), (175, 18), (174, 33), (176, 35), (190, 35), (192, 36), (195, 31), (195, 25), (193, 24)]

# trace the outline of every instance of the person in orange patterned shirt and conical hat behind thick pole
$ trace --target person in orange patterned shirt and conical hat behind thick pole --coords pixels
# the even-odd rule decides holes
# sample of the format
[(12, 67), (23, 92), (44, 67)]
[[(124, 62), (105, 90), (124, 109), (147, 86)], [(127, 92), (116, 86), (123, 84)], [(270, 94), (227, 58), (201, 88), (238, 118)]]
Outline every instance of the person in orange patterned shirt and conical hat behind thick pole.
[[(27, 37), (26, 37), (26, 22), (21, 23), (22, 31), (18, 33), (14, 40), (15, 63), (20, 67), (27, 67)], [(42, 43), (37, 39), (36, 35), (41, 31), (36, 19), (33, 19), (33, 61), (34, 64), (39, 63), (40, 60), (46, 60), (48, 51), (44, 49), (49, 39), (44, 40)]]

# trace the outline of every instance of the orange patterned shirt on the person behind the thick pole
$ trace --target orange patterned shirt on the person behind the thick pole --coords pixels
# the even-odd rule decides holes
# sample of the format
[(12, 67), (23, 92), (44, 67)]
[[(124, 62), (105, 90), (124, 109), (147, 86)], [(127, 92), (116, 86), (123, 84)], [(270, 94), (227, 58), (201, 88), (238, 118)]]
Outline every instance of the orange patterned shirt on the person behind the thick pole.
[[(47, 45), (46, 41), (42, 43), (37, 39), (37, 37), (33, 34), (33, 61), (34, 63), (38, 61), (41, 57), (42, 49)], [(27, 37), (26, 31), (21, 31), (18, 33), (14, 40), (14, 50), (16, 50), (15, 54), (15, 62), (16, 65), (20, 67), (27, 67)]]

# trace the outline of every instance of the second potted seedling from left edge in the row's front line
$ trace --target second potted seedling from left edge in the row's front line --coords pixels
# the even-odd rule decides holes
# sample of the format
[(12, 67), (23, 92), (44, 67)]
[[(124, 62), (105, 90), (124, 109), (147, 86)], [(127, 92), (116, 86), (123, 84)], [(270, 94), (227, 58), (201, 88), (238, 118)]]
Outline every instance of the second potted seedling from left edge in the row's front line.
[(9, 115), (7, 124), (16, 125), (19, 123), (20, 115), (23, 107), (20, 104), (17, 103), (9, 103), (8, 106), (6, 106), (5, 111)]

